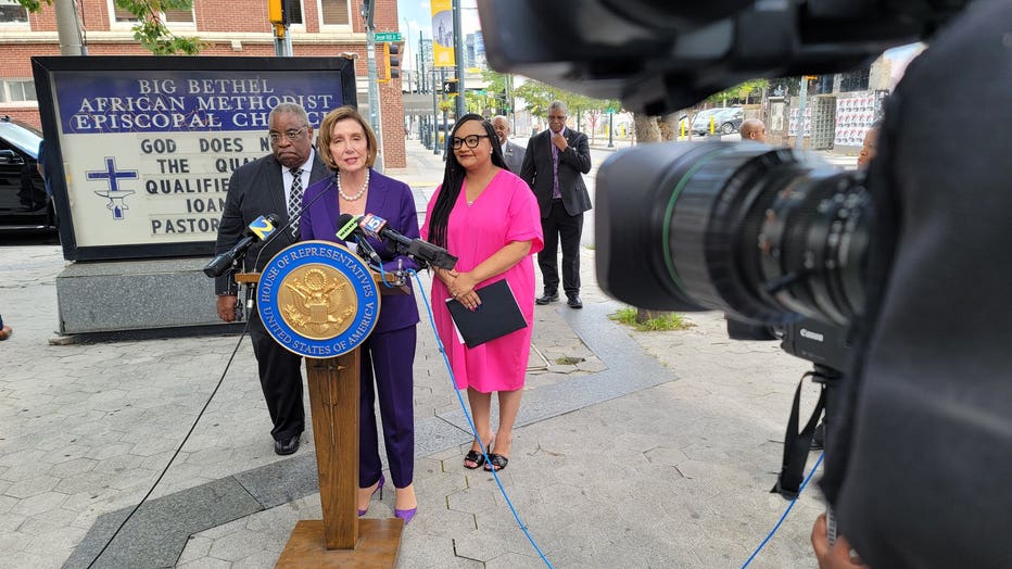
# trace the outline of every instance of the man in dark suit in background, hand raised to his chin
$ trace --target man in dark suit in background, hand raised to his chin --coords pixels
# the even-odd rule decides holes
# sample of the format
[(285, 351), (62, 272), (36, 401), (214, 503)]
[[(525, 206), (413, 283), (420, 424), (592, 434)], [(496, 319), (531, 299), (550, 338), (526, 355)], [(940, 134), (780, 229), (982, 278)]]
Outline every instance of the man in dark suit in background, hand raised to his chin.
[(567, 304), (571, 308), (582, 308), (580, 236), (583, 212), (591, 208), (583, 174), (591, 170), (591, 147), (586, 135), (566, 128), (566, 112), (562, 101), (548, 105), (548, 129), (532, 136), (528, 142), (520, 177), (537, 198), (545, 239), (545, 248), (537, 253), (545, 292), (534, 302), (548, 304), (559, 300), (556, 255), (561, 241), (562, 289)]

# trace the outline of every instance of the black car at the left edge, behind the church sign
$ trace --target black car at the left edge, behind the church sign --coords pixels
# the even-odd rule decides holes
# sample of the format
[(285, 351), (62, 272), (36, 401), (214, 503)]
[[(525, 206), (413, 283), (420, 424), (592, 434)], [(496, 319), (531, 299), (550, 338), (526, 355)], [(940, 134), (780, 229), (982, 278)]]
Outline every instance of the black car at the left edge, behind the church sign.
[(56, 215), (38, 169), (42, 134), (0, 116), (0, 231), (53, 231)]

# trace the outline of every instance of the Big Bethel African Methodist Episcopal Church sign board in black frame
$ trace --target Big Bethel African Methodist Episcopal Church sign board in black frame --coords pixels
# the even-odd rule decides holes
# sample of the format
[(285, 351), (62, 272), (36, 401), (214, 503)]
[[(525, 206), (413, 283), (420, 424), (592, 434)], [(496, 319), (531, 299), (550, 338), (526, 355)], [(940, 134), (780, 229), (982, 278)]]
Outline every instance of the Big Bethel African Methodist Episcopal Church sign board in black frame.
[[(33, 58), (68, 261), (210, 255), (232, 173), (269, 154), (268, 114), (316, 128), (356, 104), (341, 58)], [(265, 214), (270, 212), (264, 212)]]

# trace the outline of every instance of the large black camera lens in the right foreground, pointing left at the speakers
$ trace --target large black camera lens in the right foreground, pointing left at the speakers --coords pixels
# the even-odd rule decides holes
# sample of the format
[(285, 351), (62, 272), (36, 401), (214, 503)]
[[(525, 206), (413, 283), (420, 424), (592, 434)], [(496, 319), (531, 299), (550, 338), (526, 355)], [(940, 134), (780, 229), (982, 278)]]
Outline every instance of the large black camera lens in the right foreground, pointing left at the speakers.
[(861, 173), (750, 142), (649, 144), (597, 174), (597, 274), (653, 309), (846, 325), (863, 303)]

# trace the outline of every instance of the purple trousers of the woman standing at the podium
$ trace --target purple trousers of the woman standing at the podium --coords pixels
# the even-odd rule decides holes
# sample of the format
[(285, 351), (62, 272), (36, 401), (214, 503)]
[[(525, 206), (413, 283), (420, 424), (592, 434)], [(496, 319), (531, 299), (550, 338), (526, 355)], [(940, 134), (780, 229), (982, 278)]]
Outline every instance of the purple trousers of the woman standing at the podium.
[[(359, 369), (358, 485), (369, 488), (383, 471), (376, 430), (379, 399), (387, 463), (395, 488), (415, 478), (415, 325), (370, 336)], [(375, 383), (374, 383), (375, 382)]]

